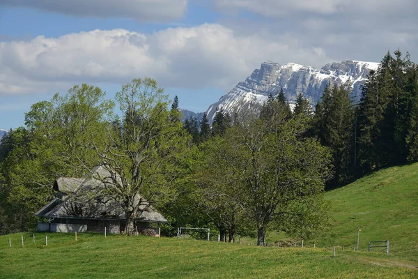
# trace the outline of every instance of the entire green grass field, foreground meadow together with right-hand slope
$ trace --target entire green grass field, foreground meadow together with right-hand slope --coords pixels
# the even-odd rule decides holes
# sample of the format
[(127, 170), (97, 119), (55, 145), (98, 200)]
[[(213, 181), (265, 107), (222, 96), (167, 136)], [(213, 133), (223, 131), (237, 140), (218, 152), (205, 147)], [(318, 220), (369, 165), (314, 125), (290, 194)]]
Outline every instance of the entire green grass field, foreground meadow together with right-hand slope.
[[(32, 234), (12, 234), (0, 236), (0, 278), (418, 278), (418, 164), (382, 169), (326, 199), (334, 220), (330, 236), (316, 240), (321, 248), (100, 234), (79, 234), (77, 242), (47, 234), (45, 246), (46, 234), (35, 244)], [(283, 238), (270, 233), (268, 242)], [(390, 255), (367, 252), (379, 240), (390, 241)]]

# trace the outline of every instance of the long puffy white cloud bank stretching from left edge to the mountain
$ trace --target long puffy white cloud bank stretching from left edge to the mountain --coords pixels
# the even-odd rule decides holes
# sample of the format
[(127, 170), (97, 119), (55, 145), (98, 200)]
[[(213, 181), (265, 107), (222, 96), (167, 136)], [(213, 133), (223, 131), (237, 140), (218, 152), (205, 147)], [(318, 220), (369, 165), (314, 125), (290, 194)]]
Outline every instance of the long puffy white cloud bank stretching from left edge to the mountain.
[[(281, 43), (279, 43), (281, 42)], [(240, 35), (219, 24), (152, 34), (125, 29), (38, 36), (0, 43), (0, 94), (40, 93), (73, 84), (122, 83), (153, 77), (162, 86), (225, 91), (265, 60), (326, 61), (325, 50), (299, 40)]]

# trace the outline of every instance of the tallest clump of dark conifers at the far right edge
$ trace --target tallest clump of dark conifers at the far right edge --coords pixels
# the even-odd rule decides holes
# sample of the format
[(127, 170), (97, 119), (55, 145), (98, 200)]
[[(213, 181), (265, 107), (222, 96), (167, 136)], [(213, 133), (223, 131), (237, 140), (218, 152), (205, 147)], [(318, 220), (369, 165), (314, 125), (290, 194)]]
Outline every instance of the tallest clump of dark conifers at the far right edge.
[(389, 52), (362, 87), (359, 162), (368, 171), (415, 158), (417, 72), (407, 54)]

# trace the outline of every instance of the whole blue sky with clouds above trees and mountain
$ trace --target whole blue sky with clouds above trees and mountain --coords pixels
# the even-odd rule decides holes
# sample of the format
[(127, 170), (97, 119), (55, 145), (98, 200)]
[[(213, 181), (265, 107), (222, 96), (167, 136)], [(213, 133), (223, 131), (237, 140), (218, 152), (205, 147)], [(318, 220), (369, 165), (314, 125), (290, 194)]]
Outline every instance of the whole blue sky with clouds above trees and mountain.
[(0, 128), (33, 103), (153, 77), (206, 110), (266, 60), (321, 67), (418, 58), (416, 0), (0, 0)]

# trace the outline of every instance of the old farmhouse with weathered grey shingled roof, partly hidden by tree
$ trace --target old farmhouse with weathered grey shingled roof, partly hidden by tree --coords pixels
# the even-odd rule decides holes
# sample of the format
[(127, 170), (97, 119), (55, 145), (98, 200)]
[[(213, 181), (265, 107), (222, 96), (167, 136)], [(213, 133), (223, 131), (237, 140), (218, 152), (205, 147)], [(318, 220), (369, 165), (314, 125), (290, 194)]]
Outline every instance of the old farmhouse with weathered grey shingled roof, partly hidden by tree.
[[(109, 233), (123, 232), (125, 213), (114, 199), (105, 195), (106, 180), (103, 178), (108, 176), (106, 169), (95, 167), (93, 173), (84, 178), (56, 179), (56, 197), (35, 214), (48, 218), (47, 223), (38, 223), (38, 231), (103, 232), (106, 227)], [(141, 197), (137, 198), (140, 200)], [(139, 232), (157, 227), (157, 223), (167, 223), (167, 219), (147, 202), (141, 203), (139, 212), (136, 221)]]

